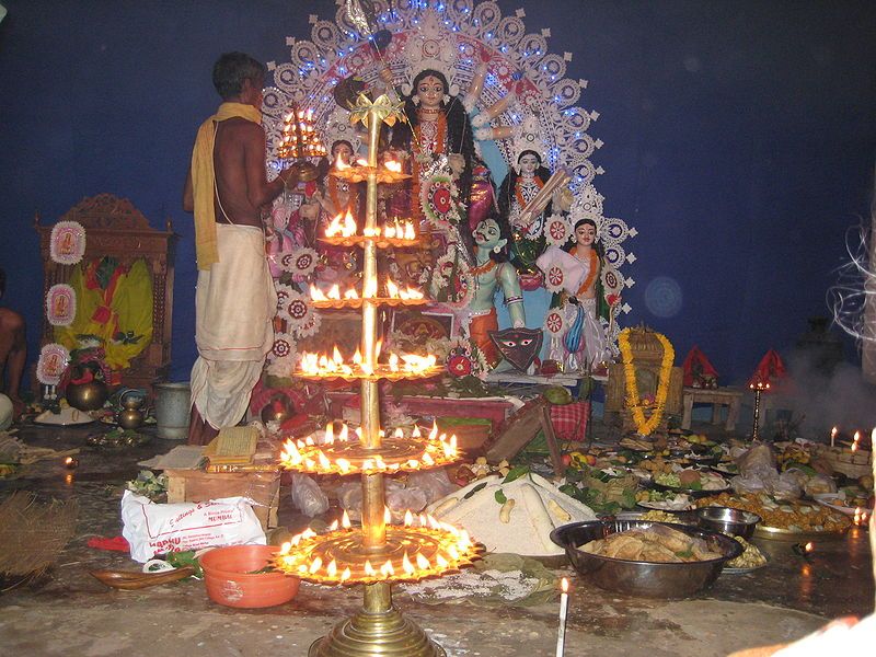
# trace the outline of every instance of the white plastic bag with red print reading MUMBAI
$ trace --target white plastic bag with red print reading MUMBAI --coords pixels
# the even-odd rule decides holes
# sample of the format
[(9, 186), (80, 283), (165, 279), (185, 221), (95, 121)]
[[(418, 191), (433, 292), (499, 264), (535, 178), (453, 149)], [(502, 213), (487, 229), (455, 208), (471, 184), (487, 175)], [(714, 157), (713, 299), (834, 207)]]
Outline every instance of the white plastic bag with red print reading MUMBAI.
[(155, 554), (221, 545), (264, 545), (265, 532), (245, 497), (155, 504), (125, 491), (122, 535), (130, 557), (146, 563)]

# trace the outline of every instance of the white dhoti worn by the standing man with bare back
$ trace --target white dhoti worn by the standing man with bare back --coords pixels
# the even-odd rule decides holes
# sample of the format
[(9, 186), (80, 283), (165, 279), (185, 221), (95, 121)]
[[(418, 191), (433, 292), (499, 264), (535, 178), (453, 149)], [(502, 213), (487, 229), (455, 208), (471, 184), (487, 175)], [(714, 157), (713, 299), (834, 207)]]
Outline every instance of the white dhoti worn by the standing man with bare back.
[(216, 429), (237, 425), (274, 344), (277, 292), (262, 230), (216, 226), (219, 262), (198, 273), (192, 403)]

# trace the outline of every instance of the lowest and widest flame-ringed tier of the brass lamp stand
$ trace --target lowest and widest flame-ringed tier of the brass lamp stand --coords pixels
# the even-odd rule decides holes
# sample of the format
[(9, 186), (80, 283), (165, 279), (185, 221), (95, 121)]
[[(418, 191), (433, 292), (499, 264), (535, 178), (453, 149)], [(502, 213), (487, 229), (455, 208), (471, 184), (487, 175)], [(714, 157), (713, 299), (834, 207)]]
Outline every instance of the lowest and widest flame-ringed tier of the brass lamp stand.
[[(464, 531), (438, 523), (387, 527), (387, 541), (369, 549), (359, 529), (312, 534), (283, 546), (274, 566), (323, 585), (419, 581), (459, 572), (484, 552)], [(428, 521), (424, 521), (428, 522)]]

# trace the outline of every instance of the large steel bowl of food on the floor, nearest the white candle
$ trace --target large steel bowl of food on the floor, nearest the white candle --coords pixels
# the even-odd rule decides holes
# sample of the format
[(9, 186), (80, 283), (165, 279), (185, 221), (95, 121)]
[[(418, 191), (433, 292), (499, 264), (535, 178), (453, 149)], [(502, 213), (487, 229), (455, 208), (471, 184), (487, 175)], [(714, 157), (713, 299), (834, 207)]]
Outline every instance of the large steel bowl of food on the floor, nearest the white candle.
[[(611, 558), (578, 550), (578, 546), (585, 543), (604, 539), (615, 532), (648, 529), (655, 525), (665, 525), (691, 537), (703, 539), (710, 550), (719, 552), (723, 556), (701, 562), (656, 563)], [(715, 581), (724, 564), (742, 553), (739, 543), (719, 532), (648, 520), (572, 522), (554, 529), (551, 532), (551, 540), (566, 551), (566, 556), (575, 569), (598, 587), (645, 598), (672, 599), (692, 596)]]

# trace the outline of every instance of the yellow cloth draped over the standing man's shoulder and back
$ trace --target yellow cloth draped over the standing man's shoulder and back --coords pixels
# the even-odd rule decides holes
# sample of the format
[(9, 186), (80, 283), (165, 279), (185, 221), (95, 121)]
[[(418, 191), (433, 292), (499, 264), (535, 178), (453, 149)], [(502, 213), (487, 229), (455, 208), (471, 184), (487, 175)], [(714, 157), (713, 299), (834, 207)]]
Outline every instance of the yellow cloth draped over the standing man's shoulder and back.
[(216, 171), (212, 148), (216, 142), (216, 123), (228, 118), (245, 118), (262, 125), (262, 113), (243, 103), (222, 103), (216, 114), (200, 124), (195, 148), (192, 151), (192, 189), (195, 196), (195, 250), (198, 269), (209, 269), (219, 262), (216, 242), (216, 208), (214, 187)]

